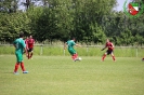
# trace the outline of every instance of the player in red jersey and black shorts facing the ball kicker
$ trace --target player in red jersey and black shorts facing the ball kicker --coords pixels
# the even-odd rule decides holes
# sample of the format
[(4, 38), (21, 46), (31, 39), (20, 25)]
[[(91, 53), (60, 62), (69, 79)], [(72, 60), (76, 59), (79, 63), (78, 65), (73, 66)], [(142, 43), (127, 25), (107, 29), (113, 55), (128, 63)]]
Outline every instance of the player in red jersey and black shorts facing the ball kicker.
[(113, 60), (115, 62), (116, 58), (115, 58), (115, 55), (114, 55), (114, 44), (110, 42), (109, 39), (106, 40), (105, 48), (102, 49), (102, 51), (105, 50), (106, 48), (108, 48), (108, 49), (107, 49), (107, 51), (105, 52), (105, 54), (103, 55), (102, 60), (104, 62), (106, 55), (109, 55), (109, 54), (110, 54), (112, 57), (113, 57)]

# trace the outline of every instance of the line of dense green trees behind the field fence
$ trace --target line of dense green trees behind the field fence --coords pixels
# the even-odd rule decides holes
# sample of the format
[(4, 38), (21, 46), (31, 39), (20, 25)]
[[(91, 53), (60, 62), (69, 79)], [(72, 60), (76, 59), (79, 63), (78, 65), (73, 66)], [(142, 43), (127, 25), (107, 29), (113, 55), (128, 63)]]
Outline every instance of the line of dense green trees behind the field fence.
[(125, 12), (114, 10), (116, 0), (43, 0), (42, 6), (26, 0), (26, 12), (17, 11), (16, 1), (0, 1), (1, 42), (12, 43), (23, 31), (43, 43), (71, 37), (87, 44), (101, 44), (106, 38), (116, 45), (144, 43), (144, 13), (130, 18)]

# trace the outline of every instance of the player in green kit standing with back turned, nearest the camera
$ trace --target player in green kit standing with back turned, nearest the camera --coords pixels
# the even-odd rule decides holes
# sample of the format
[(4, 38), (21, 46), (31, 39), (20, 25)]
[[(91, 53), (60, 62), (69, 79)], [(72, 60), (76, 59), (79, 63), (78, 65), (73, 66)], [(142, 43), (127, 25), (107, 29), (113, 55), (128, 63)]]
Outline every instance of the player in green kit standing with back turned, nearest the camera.
[(18, 69), (19, 65), (23, 70), (23, 73), (28, 73), (28, 71), (25, 70), (24, 62), (23, 62), (23, 53), (25, 52), (27, 55), (26, 44), (25, 44), (25, 41), (23, 40), (23, 37), (24, 37), (24, 33), (21, 32), (19, 38), (13, 42), (13, 45), (15, 48), (15, 55), (16, 55), (16, 59), (17, 59), (17, 62), (15, 64), (14, 74), (18, 74), (17, 69)]

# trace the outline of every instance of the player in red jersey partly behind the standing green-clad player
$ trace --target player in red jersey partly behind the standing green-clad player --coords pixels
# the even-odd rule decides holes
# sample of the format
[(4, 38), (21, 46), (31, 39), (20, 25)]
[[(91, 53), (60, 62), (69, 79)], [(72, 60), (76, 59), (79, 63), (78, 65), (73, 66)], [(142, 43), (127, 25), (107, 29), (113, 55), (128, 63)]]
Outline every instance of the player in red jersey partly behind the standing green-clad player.
[(28, 39), (28, 59), (32, 57), (32, 50), (34, 50), (35, 40), (32, 39), (32, 36)]

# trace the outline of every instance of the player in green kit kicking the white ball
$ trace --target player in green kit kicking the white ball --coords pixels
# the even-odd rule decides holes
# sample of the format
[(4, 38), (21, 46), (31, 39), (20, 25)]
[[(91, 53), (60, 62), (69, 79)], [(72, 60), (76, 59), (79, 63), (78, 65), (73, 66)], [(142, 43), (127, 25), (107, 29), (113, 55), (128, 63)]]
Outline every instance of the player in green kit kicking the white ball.
[(78, 58), (78, 54), (77, 54), (77, 52), (75, 51), (74, 45), (76, 45), (76, 46), (81, 46), (81, 45), (76, 44), (75, 41), (76, 41), (75, 38), (73, 38), (71, 40), (68, 40), (68, 41), (64, 44), (64, 50), (66, 49), (66, 45), (67, 45), (67, 46), (68, 46), (68, 52), (69, 52), (69, 54), (71, 55), (73, 60), (76, 62), (76, 60), (80, 60), (80, 59)]

